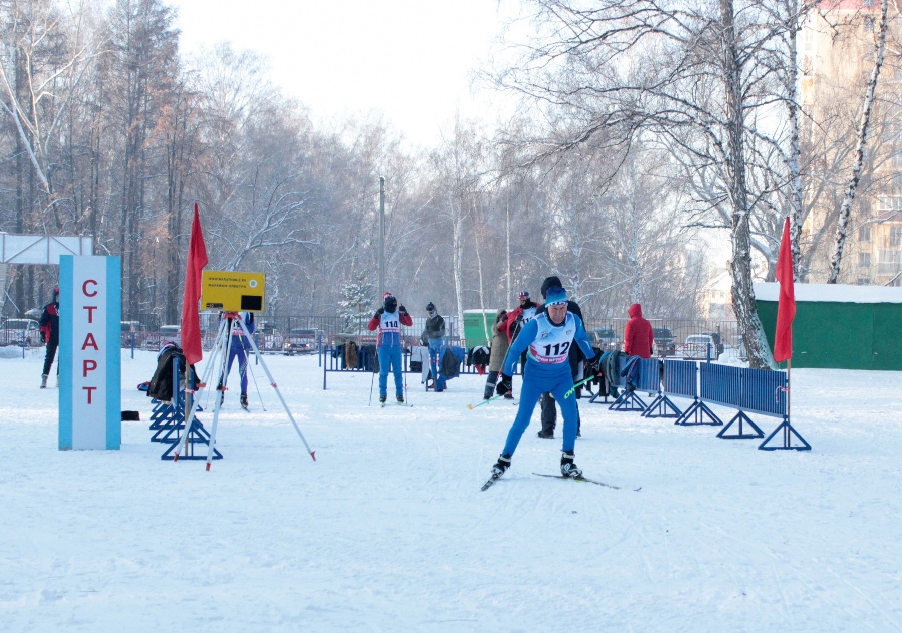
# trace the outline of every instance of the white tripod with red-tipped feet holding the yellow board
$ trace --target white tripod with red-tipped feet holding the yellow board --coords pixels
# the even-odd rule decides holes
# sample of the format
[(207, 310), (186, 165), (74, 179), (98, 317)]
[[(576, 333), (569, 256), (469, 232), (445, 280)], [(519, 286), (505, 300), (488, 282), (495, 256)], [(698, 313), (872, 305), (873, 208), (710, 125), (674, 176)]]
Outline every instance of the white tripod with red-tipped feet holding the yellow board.
[[(200, 403), (201, 394), (204, 390), (207, 389), (207, 383), (213, 377), (213, 371), (217, 367), (220, 370), (220, 376), (223, 377), (222, 384), (216, 388), (216, 390), (225, 390), (226, 389), (226, 370), (228, 369), (228, 357), (229, 353), (232, 351), (232, 329), (235, 327), (235, 323), (241, 327), (244, 332), (244, 336), (247, 337), (247, 340), (250, 342), (251, 347), (253, 348), (253, 353), (257, 354), (257, 358), (260, 359), (260, 364), (263, 366), (263, 371), (266, 372), (266, 376), (270, 379), (270, 384), (272, 385), (272, 389), (276, 390), (276, 394), (278, 394), (279, 399), (281, 400), (282, 407), (285, 408), (285, 413), (288, 414), (289, 419), (291, 420), (291, 424), (294, 425), (294, 430), (298, 432), (298, 436), (300, 437), (300, 441), (304, 443), (304, 448), (307, 449), (310, 457), (313, 458), (313, 461), (316, 462), (317, 458), (314, 455), (314, 451), (310, 450), (310, 446), (307, 444), (307, 440), (304, 439), (304, 434), (300, 432), (300, 427), (298, 427), (298, 423), (295, 421), (294, 416), (291, 415), (291, 411), (288, 408), (288, 404), (285, 402), (285, 399), (281, 395), (281, 391), (279, 387), (276, 385), (276, 381), (272, 379), (272, 373), (270, 373), (270, 368), (266, 366), (266, 362), (263, 361), (262, 354), (260, 350), (257, 348), (257, 344), (253, 341), (253, 336), (248, 331), (247, 326), (244, 325), (244, 319), (237, 312), (224, 312), (223, 320), (219, 324), (219, 330), (216, 332), (216, 341), (213, 344), (213, 349), (210, 352), (210, 360), (207, 362), (207, 368), (204, 370), (204, 377), (200, 381), (200, 388), (198, 389), (198, 393), (194, 398), (194, 403), (191, 406), (191, 412), (188, 418), (185, 420), (185, 437), (184, 437), (184, 445), (180, 445), (176, 448), (174, 460), (179, 461), (179, 454), (185, 453), (188, 454), (188, 444), (189, 444), (189, 435), (191, 430), (191, 424), (194, 422), (194, 415), (198, 411), (198, 404)], [(216, 362), (216, 356), (222, 353), (222, 361)], [(186, 373), (186, 375), (190, 375), (190, 372)], [(216, 447), (216, 425), (219, 422), (219, 408), (221, 404), (221, 396), (214, 398), (215, 404), (213, 406), (213, 427), (210, 428), (210, 445), (207, 449), (207, 471), (210, 470), (210, 464), (213, 462), (213, 451)]]

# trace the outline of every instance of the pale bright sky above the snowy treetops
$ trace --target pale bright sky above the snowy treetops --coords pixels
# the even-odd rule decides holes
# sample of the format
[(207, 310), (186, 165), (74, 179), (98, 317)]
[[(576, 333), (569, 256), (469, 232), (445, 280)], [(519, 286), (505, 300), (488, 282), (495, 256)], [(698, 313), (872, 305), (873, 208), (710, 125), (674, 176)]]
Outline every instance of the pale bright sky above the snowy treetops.
[(471, 72), (502, 30), (496, 0), (174, 0), (182, 50), (231, 41), (315, 119), (381, 110), (410, 142), (437, 142), (456, 109), (493, 120)]

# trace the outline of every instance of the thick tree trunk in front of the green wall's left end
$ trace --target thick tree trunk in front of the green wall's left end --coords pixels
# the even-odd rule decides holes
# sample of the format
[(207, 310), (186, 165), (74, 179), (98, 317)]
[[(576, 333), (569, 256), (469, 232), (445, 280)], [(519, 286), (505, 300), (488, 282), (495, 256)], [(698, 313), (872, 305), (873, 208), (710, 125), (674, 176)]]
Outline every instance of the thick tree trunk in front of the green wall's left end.
[(720, 0), (721, 26), (723, 28), (723, 82), (727, 113), (727, 177), (732, 206), (730, 232), (732, 259), (732, 307), (736, 315), (753, 369), (776, 369), (770, 353), (764, 328), (758, 317), (755, 293), (751, 287), (751, 235), (749, 224), (749, 200), (745, 179), (745, 156), (743, 152), (743, 132), (745, 130), (742, 111), (742, 66), (736, 32), (733, 24), (732, 0)]

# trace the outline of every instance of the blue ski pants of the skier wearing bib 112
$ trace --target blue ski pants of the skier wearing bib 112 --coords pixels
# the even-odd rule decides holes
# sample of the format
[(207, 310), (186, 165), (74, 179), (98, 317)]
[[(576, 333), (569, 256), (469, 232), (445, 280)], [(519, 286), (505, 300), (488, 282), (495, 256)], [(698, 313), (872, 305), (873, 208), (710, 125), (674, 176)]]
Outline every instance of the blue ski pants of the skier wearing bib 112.
[(550, 392), (557, 400), (564, 417), (564, 446), (563, 450), (572, 451), (576, 443), (576, 396), (574, 393), (566, 395), (573, 389), (573, 374), (570, 372), (568, 362), (561, 363), (562, 367), (548, 369), (538, 364), (528, 362), (523, 375), (523, 386), (520, 387), (520, 408), (517, 409), (517, 417), (508, 432), (507, 443), (504, 445), (503, 454), (512, 455), (520, 443), (520, 436), (526, 427), (529, 427), (529, 419), (538, 404), (538, 399), (545, 392)]

